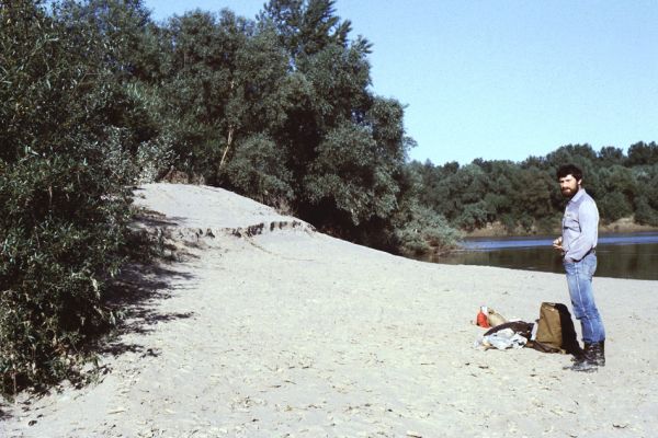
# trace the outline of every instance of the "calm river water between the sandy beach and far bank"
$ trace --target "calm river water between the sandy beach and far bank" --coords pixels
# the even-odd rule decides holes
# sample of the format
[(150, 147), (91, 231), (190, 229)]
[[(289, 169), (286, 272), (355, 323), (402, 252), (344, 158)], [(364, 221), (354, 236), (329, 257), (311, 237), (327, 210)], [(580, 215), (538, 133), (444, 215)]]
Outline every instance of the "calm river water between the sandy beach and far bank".
[[(467, 239), (463, 249), (431, 262), (564, 274), (555, 237)], [(658, 280), (658, 232), (599, 234), (597, 277)]]

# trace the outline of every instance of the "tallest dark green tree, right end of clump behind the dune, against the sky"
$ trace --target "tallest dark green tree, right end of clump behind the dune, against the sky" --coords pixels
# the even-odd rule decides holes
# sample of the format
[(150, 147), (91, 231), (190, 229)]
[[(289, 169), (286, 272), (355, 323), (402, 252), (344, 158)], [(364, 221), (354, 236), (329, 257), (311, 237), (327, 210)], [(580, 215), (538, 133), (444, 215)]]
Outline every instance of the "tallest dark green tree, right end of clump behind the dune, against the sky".
[(332, 0), (272, 0), (259, 19), (287, 54), (287, 117), (274, 139), (286, 153), (298, 212), (341, 232), (373, 221), (387, 227), (410, 140), (402, 105), (370, 91), (372, 45), (350, 38), (351, 23)]

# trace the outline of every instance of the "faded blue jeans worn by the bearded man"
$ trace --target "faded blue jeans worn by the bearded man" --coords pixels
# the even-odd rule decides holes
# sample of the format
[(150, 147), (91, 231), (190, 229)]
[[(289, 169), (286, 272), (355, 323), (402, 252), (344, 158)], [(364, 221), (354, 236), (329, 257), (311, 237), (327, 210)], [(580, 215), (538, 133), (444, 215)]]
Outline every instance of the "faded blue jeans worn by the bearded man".
[(605, 328), (603, 328), (592, 290), (597, 255), (590, 253), (578, 262), (565, 261), (564, 265), (567, 272), (574, 315), (580, 321), (582, 327), (582, 342), (593, 344), (605, 341)]

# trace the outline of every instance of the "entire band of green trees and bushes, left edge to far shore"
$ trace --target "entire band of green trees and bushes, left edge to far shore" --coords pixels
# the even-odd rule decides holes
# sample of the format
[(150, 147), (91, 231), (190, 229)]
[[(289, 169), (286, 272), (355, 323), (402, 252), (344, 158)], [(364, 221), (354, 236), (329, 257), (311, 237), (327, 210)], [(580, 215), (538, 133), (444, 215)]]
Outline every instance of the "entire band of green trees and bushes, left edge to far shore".
[(113, 323), (134, 249), (131, 188), (234, 189), (398, 253), (457, 228), (551, 227), (554, 169), (585, 168), (605, 220), (658, 222), (656, 145), (565, 147), (521, 164), (409, 163), (404, 105), (373, 92), (364, 37), (333, 0), (271, 0), (256, 20), (156, 23), (141, 0), (0, 2), (0, 390), (71, 377)]

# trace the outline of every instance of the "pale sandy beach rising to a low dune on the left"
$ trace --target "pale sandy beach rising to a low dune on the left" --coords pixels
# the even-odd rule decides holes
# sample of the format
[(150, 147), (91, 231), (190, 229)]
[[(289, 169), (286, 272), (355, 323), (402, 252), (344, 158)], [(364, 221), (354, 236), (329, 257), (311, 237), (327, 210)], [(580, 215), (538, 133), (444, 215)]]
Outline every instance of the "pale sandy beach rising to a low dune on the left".
[[(594, 279), (604, 368), (474, 342), (563, 275), (416, 262), (205, 186), (150, 184), (188, 255), (148, 273), (97, 381), (2, 404), (0, 437), (654, 437), (658, 281)], [(579, 328), (577, 326), (577, 328)]]

